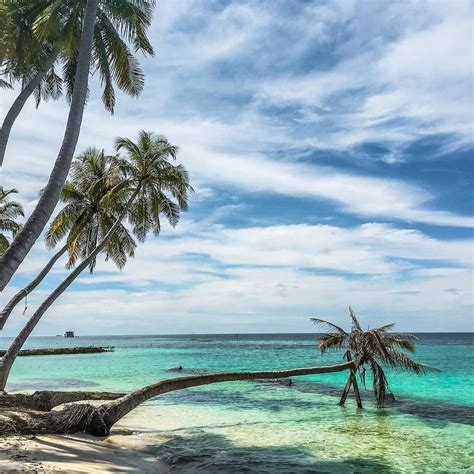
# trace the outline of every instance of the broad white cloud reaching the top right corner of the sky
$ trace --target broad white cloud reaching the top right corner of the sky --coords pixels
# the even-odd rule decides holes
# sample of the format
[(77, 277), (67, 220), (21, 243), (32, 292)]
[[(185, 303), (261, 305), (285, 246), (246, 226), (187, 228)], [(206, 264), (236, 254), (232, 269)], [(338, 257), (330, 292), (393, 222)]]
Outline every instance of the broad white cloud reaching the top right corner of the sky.
[[(457, 146), (472, 144), (472, 3), (405, 3), (405, 15), (412, 13), (403, 18), (406, 23), (399, 7), (395, 3), (379, 18), (380, 24), (393, 20), (387, 28), (400, 29), (396, 39), (382, 45), (374, 39), (373, 48), (361, 48), (327, 71), (269, 80), (259, 101), (324, 111), (304, 115), (319, 124), (316, 147), (397, 145), (429, 133), (452, 133), (458, 135)], [(359, 26), (367, 21), (352, 20)], [(343, 105), (334, 109), (330, 104), (338, 94), (345, 94)], [(381, 127), (388, 120), (392, 124)]]

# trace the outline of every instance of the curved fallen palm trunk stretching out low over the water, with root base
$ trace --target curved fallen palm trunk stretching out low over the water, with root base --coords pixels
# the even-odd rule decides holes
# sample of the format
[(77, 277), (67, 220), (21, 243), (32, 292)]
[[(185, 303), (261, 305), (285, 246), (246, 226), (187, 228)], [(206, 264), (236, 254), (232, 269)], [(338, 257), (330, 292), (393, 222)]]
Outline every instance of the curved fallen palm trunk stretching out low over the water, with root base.
[(8, 417), (7, 413), (2, 417), (0, 413), (0, 432), (5, 434), (64, 434), (81, 431), (94, 436), (106, 436), (109, 434), (112, 426), (134, 408), (150, 398), (163, 393), (212, 383), (342, 372), (353, 367), (354, 362), (345, 362), (344, 364), (332, 366), (307, 367), (301, 369), (266, 370), (262, 372), (220, 372), (215, 374), (178, 377), (162, 380), (143, 387), (113, 402), (100, 406), (79, 403), (67, 405), (60, 411), (27, 413), (24, 416), (18, 416), (18, 413), (13, 413), (11, 417)]

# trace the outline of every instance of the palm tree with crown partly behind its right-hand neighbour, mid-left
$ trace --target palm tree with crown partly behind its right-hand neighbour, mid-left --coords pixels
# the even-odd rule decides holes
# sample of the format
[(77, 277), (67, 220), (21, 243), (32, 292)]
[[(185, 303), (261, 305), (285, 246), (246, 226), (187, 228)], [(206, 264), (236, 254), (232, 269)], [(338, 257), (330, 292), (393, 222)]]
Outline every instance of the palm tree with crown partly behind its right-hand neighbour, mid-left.
[[(0, 313), (0, 329), (7, 322), (15, 306), (26, 298), (46, 277), (54, 264), (66, 253), (69, 258), (66, 268), (73, 268), (78, 259), (86, 258), (97, 246), (115, 222), (122, 210), (117, 190), (123, 186), (117, 173), (110, 167), (110, 157), (103, 151), (89, 148), (76, 157), (71, 165), (70, 181), (61, 192), (61, 202), (65, 206), (50, 224), (45, 241), (54, 248), (66, 237), (61, 246), (38, 275), (18, 291)], [(106, 260), (111, 259), (122, 269), (127, 256), (133, 257), (136, 243), (127, 228), (120, 224), (115, 234), (105, 246)], [(96, 259), (89, 265), (92, 273)]]

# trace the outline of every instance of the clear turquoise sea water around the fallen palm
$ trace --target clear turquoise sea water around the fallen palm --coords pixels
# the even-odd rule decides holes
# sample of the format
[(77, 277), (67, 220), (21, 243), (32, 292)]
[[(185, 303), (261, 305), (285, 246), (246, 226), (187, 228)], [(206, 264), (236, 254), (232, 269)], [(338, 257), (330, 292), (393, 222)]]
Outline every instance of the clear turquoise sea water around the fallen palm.
[[(472, 334), (419, 334), (416, 359), (440, 373), (388, 372), (397, 402), (363, 393), (337, 405), (346, 375), (215, 384), (149, 401), (117, 425), (153, 440), (178, 472), (474, 472)], [(9, 390), (132, 390), (179, 374), (329, 365), (315, 335), (32, 338), (29, 347), (113, 345), (115, 351), (19, 358)], [(0, 339), (0, 346), (7, 340)]]

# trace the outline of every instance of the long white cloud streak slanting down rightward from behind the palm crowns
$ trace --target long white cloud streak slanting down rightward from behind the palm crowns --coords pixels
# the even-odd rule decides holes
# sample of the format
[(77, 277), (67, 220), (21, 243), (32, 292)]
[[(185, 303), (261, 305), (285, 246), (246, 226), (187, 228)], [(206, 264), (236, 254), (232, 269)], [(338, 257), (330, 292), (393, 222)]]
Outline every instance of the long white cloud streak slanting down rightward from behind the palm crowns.
[[(38, 112), (40, 113), (41, 111)], [(41, 120), (41, 117), (35, 117), (35, 120), (38, 119)], [(108, 145), (106, 150), (112, 152), (111, 144), (117, 135), (130, 135), (129, 120), (125, 117), (103, 122), (100, 113), (94, 110), (92, 114), (89, 111), (86, 113), (85, 122), (82, 147), (86, 143), (97, 144), (99, 147), (105, 143)], [(29, 119), (26, 123), (31, 124)], [(227, 141), (232, 142), (232, 147), (240, 144), (244, 149), (255, 138), (259, 132), (252, 134), (247, 122), (233, 128), (216, 121), (190, 120), (176, 123), (144, 117), (140, 123), (145, 129), (160, 130), (174, 143), (180, 144), (180, 161), (190, 170), (198, 192), (200, 187), (207, 193), (209, 188), (225, 184), (243, 192), (271, 192), (292, 197), (325, 199), (336, 203), (340, 210), (358, 216), (459, 227), (470, 227), (473, 224), (469, 217), (430, 209), (429, 201), (434, 196), (419, 186), (399, 180), (351, 175), (317, 165), (277, 161), (252, 151), (220, 151), (226, 147)], [(20, 128), (24, 126), (22, 124)], [(50, 130), (54, 133), (53, 128)], [(260, 131), (260, 139), (266, 140), (268, 132)], [(52, 139), (49, 143), (54, 141), (57, 140)], [(18, 161), (10, 161), (5, 165), (5, 186), (16, 185), (20, 191), (26, 190), (29, 201), (27, 210), (32, 207), (35, 195), (44, 185), (44, 165), (37, 163), (41, 163), (41, 159), (46, 163), (52, 161), (51, 158), (47, 159), (50, 146), (38, 144), (36, 153), (30, 154), (30, 145), (24, 147), (23, 144), (12, 144), (9, 160), (16, 155), (15, 159)], [(29, 169), (33, 174), (23, 174), (21, 169)]]

